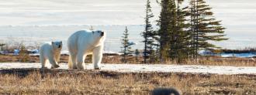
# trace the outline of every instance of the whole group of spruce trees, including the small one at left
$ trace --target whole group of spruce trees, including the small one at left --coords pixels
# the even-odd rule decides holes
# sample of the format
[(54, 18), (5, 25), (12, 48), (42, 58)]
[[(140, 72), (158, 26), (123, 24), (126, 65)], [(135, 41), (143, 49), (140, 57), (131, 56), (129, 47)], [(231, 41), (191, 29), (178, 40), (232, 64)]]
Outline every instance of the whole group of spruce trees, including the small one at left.
[[(199, 50), (220, 49), (211, 42), (227, 40), (221, 21), (216, 20), (212, 8), (204, 0), (190, 0), (189, 5), (184, 5), (184, 0), (159, 0), (157, 3), (161, 5), (157, 30), (150, 22), (154, 17), (150, 0), (146, 4), (145, 29), (141, 33), (144, 38), (143, 63), (197, 60)], [(122, 42), (124, 60), (131, 53), (130, 46), (125, 42), (126, 36), (127, 28)]]

